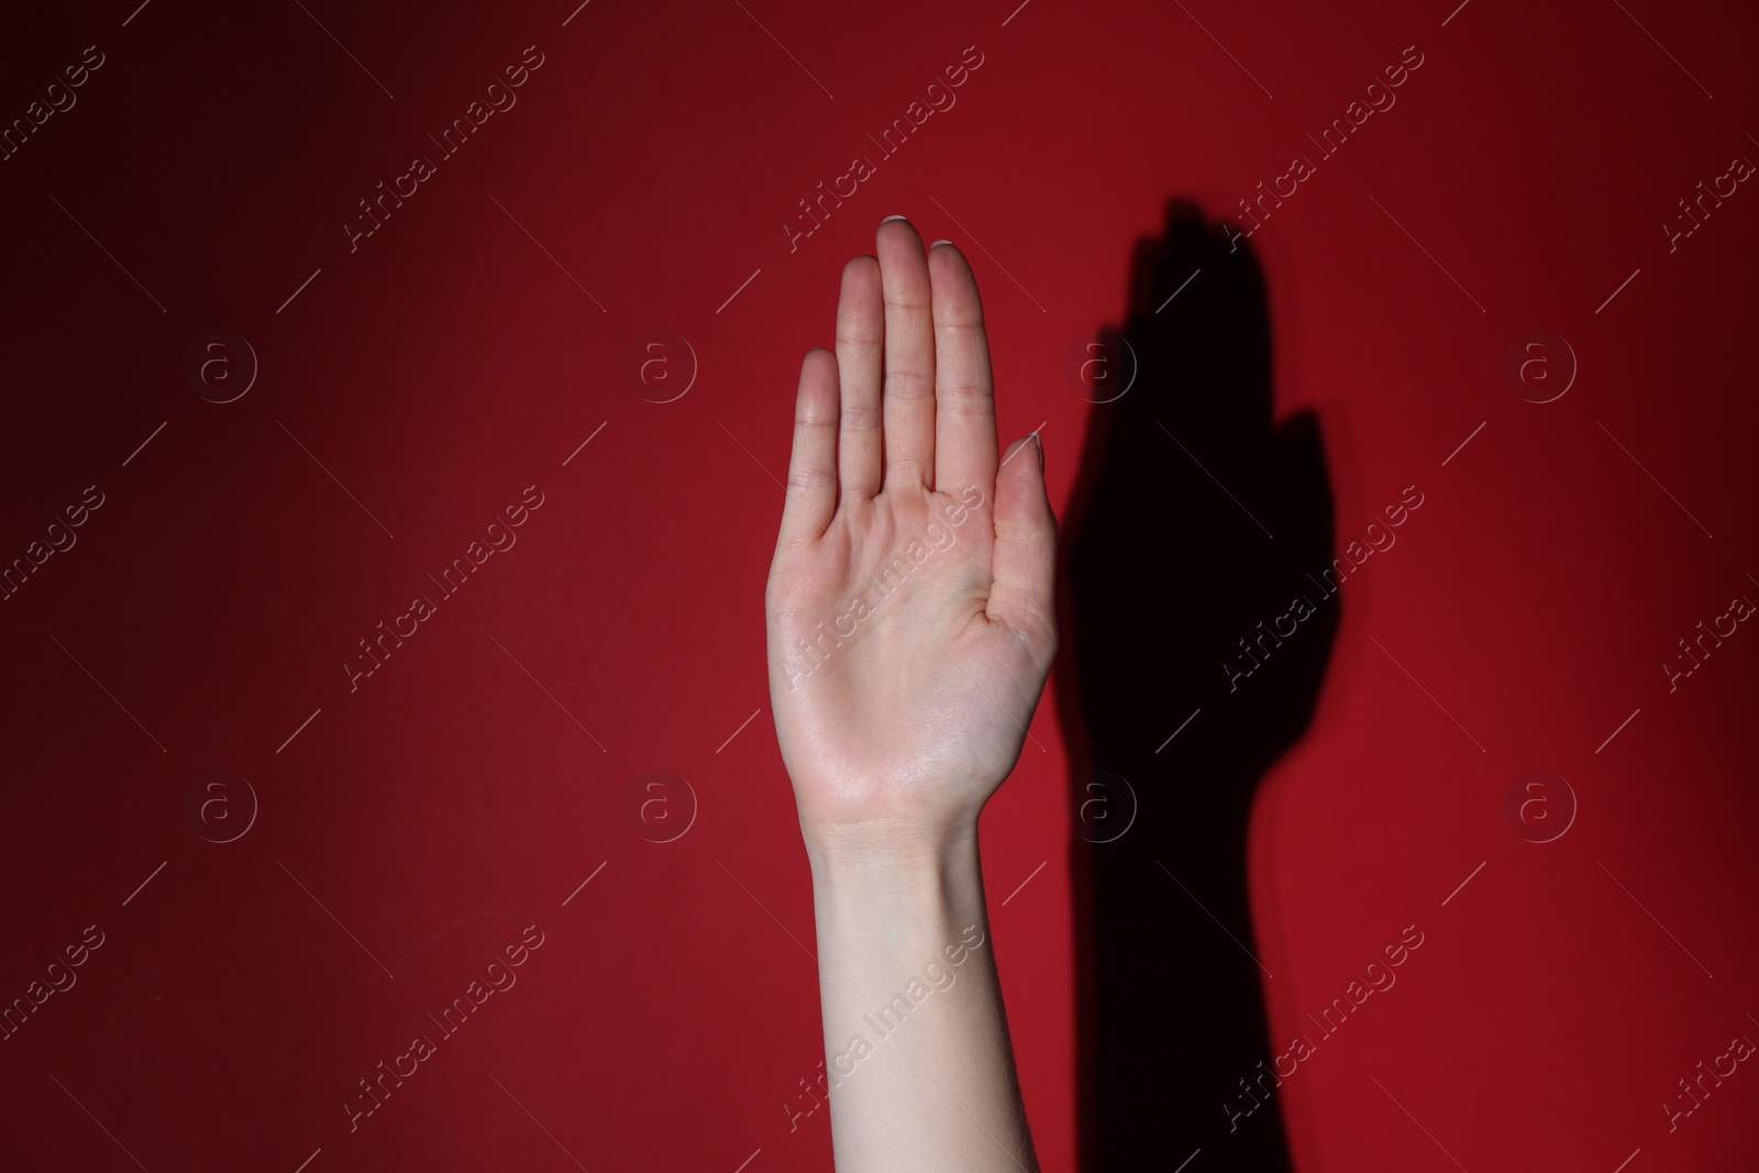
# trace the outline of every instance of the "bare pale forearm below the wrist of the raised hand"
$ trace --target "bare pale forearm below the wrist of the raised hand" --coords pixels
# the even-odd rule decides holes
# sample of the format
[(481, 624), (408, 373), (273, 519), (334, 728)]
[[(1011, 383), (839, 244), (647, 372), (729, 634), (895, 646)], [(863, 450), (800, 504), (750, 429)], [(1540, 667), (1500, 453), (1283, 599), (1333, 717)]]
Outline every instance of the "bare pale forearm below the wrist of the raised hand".
[(1034, 1173), (976, 828), (809, 842), (839, 1173)]

